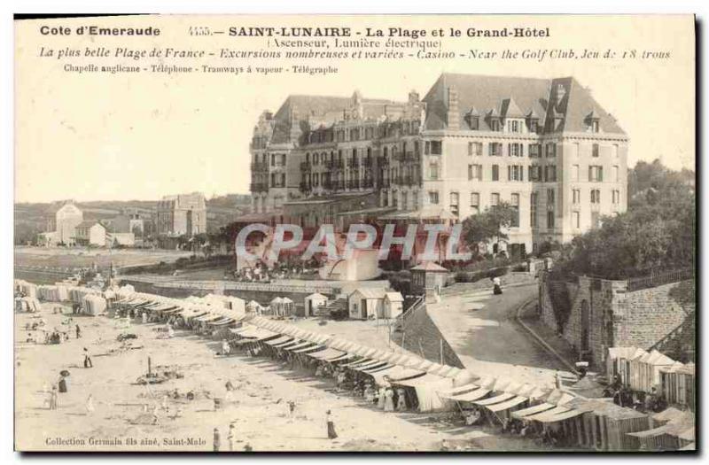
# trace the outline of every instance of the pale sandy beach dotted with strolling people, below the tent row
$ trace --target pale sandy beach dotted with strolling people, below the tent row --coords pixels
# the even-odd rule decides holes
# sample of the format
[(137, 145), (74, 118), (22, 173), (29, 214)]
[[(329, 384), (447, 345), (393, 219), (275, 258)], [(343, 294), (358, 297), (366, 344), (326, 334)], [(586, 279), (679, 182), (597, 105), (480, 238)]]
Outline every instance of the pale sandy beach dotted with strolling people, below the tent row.
[[(63, 307), (64, 315), (55, 314), (58, 307), (46, 303), (40, 315), (16, 314), (15, 445), (19, 450), (212, 451), (215, 428), (221, 451), (232, 447), (240, 452), (539, 448), (529, 440), (450, 422), (447, 414), (385, 414), (363, 399), (337, 392), (329, 379), (293, 371), (274, 360), (215, 357), (218, 341), (188, 331), (177, 330), (175, 337), (160, 339), (154, 330), (159, 325), (134, 321), (129, 329), (119, 329), (104, 316), (74, 316), (69, 328), (62, 324), (71, 316), (69, 308)], [(70, 339), (60, 345), (27, 343), (25, 325), (38, 321), (38, 316), (46, 320), (47, 328), (68, 331)], [(75, 338), (77, 323), (81, 339)], [(137, 338), (117, 341), (126, 332)], [(84, 347), (93, 368), (83, 368)], [(150, 386), (136, 384), (147, 372), (148, 357), (153, 370), (171, 370), (182, 377)], [(47, 391), (63, 369), (70, 372), (68, 391), (58, 394), (58, 410), (50, 410)], [(215, 411), (214, 398), (224, 399), (228, 381), (236, 391)], [(166, 398), (175, 390), (179, 399)], [(189, 391), (195, 396), (192, 400), (185, 398)], [(293, 415), (289, 401), (296, 405)], [(339, 438), (327, 438), (327, 410)], [(231, 444), (230, 423), (236, 427)]]

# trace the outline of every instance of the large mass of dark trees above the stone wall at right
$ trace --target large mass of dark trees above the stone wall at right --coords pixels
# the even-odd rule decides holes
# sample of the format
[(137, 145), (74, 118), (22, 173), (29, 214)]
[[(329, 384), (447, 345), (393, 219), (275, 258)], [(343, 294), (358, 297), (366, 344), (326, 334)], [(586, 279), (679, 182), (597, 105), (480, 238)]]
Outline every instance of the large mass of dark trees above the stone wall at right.
[(560, 275), (625, 279), (694, 266), (696, 200), (690, 171), (639, 162), (626, 213), (575, 237), (555, 269)]

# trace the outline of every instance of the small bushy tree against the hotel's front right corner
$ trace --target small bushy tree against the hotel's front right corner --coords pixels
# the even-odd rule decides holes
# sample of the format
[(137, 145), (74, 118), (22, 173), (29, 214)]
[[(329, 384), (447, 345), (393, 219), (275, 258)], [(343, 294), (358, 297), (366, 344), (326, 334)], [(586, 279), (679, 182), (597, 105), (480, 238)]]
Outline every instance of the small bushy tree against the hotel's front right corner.
[(508, 238), (505, 229), (518, 219), (518, 209), (506, 202), (489, 206), (483, 213), (469, 216), (463, 221), (462, 237), (472, 252), (479, 254), (479, 244)]

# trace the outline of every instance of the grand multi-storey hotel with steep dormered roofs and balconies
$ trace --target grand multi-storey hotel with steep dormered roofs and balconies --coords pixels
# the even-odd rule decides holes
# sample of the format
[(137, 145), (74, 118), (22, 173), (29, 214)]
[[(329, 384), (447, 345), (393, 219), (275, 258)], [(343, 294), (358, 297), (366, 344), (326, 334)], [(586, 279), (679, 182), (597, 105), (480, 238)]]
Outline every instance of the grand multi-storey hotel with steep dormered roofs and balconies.
[(402, 102), (290, 96), (253, 130), (253, 218), (463, 221), (507, 202), (508, 243), (530, 252), (626, 210), (627, 143), (573, 77), (441, 74)]

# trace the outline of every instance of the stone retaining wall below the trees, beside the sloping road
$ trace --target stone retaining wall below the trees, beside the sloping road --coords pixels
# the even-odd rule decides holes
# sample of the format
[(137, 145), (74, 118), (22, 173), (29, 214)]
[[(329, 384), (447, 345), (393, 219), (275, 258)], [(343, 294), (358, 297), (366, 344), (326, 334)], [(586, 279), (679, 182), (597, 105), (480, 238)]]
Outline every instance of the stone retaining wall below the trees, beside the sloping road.
[[(667, 283), (640, 291), (627, 291), (626, 281), (610, 281), (581, 276), (578, 283), (540, 282), (539, 317), (550, 329), (560, 332), (579, 351), (583, 360), (596, 368), (603, 367), (609, 347), (658, 345), (685, 320), (694, 318), (696, 305), (694, 281)], [(553, 293), (568, 295), (563, 298)], [(565, 305), (568, 314), (563, 324), (557, 322), (555, 306)], [(584, 308), (588, 312), (584, 324)], [(583, 350), (584, 327), (588, 346)], [(561, 330), (559, 331), (559, 329)], [(688, 335), (692, 336), (692, 335)], [(694, 345), (690, 341), (690, 345)]]

